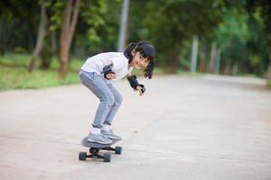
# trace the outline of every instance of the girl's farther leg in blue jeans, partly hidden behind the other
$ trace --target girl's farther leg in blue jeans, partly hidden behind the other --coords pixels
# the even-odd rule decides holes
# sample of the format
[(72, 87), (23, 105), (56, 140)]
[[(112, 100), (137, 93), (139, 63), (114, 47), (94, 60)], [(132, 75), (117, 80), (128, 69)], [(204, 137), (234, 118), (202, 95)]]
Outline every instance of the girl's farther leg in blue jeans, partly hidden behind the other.
[(118, 110), (120, 104), (122, 103), (123, 98), (122, 98), (121, 94), (118, 93), (117, 89), (113, 85), (109, 84), (107, 86), (109, 87), (110, 91), (114, 95), (114, 99), (115, 99), (115, 101), (114, 101), (113, 105), (111, 106), (110, 111), (107, 113), (107, 117), (105, 119), (105, 124), (111, 125), (112, 121), (114, 120), (114, 117), (117, 113), (117, 110)]

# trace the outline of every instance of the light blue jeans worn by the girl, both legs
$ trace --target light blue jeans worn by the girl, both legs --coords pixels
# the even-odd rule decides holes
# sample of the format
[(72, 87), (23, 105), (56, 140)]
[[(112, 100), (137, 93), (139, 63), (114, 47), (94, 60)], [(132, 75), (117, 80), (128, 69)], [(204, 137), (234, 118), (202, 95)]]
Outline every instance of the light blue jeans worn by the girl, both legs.
[(80, 70), (79, 77), (82, 84), (86, 85), (100, 101), (92, 126), (102, 128), (104, 124), (111, 125), (122, 103), (121, 94), (117, 92), (113, 85), (107, 84), (104, 77), (95, 72)]

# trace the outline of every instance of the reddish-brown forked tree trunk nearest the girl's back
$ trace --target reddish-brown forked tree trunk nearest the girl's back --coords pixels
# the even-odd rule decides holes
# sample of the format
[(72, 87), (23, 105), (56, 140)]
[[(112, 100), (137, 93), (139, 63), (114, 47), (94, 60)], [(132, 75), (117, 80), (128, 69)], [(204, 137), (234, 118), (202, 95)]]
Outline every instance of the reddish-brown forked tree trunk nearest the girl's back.
[(72, 6), (73, 0), (67, 1), (64, 13), (62, 14), (60, 67), (60, 76), (62, 78), (64, 78), (67, 73), (67, 64), (70, 56), (70, 44), (79, 15), (79, 0), (75, 0), (74, 8)]

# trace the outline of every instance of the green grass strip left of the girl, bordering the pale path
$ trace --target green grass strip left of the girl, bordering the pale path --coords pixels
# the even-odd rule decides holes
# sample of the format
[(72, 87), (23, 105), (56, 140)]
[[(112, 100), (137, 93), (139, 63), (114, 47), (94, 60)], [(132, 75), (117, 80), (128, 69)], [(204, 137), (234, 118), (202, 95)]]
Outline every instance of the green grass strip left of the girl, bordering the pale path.
[(83, 61), (72, 59), (67, 76), (61, 79), (58, 74), (59, 63), (56, 58), (52, 59), (51, 69), (36, 69), (33, 73), (27, 70), (29, 59), (29, 55), (21, 54), (7, 54), (0, 57), (0, 91), (79, 83), (79, 67)]

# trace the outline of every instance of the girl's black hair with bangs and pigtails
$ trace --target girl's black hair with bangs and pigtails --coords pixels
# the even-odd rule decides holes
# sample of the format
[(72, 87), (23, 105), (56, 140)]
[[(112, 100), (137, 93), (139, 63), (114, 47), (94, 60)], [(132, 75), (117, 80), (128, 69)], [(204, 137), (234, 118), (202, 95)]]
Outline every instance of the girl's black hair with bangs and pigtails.
[(129, 43), (124, 51), (124, 55), (129, 59), (128, 63), (131, 63), (133, 60), (132, 50), (135, 49), (135, 52), (140, 52), (140, 54), (149, 60), (149, 64), (145, 68), (145, 77), (149, 79), (153, 76), (154, 71), (154, 57), (155, 57), (155, 49), (154, 46), (146, 41), (141, 40), (137, 43)]

